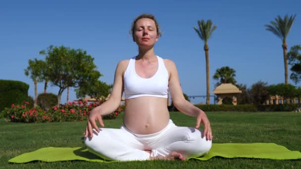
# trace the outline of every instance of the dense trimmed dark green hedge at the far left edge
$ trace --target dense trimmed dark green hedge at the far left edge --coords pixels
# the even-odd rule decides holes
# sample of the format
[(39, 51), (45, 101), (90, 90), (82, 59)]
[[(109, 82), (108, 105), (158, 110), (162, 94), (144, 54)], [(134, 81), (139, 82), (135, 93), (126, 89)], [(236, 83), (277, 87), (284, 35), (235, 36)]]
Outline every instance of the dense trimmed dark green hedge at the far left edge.
[(28, 100), (28, 88), (28, 84), (20, 81), (0, 80), (0, 111)]

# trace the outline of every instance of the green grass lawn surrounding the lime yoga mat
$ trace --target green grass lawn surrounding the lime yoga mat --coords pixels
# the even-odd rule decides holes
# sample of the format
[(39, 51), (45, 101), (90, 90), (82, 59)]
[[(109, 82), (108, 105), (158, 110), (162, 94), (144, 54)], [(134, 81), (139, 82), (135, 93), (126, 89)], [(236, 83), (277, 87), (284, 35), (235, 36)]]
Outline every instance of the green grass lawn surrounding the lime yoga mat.
[[(181, 113), (170, 113), (177, 126), (195, 126), (195, 119)], [(301, 113), (229, 113), (207, 112), (213, 130), (213, 143), (265, 142), (301, 151)], [(122, 115), (116, 120), (105, 120), (106, 127), (118, 128)], [(226, 159), (214, 157), (208, 161), (147, 161), (126, 163), (94, 163), (86, 161), (31, 162), (9, 164), (7, 161), (22, 153), (42, 147), (81, 147), (86, 122), (74, 123), (7, 123), (0, 119), (0, 168), (280, 168), (301, 169), (301, 160)]]

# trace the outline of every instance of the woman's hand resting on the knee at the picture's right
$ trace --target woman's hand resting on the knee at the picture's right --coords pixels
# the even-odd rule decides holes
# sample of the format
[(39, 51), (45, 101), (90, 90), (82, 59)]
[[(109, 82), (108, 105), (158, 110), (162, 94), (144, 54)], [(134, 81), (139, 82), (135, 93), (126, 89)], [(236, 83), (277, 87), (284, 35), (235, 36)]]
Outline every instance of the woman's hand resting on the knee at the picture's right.
[(200, 113), (197, 116), (197, 125), (196, 128), (199, 128), (201, 123), (204, 125), (204, 130), (203, 130), (203, 136), (206, 137), (206, 140), (212, 140), (212, 131), (210, 127), (210, 122), (205, 114), (205, 112), (200, 111)]

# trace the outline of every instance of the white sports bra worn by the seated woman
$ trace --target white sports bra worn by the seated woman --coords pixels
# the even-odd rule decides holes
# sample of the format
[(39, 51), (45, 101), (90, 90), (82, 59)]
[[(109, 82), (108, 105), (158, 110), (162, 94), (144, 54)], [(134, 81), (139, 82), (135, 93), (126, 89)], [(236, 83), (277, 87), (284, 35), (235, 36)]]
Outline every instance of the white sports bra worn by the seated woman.
[(135, 71), (136, 57), (130, 59), (124, 72), (125, 99), (142, 96), (163, 97), (168, 96), (168, 72), (163, 59), (157, 56), (158, 70), (151, 78), (141, 78)]

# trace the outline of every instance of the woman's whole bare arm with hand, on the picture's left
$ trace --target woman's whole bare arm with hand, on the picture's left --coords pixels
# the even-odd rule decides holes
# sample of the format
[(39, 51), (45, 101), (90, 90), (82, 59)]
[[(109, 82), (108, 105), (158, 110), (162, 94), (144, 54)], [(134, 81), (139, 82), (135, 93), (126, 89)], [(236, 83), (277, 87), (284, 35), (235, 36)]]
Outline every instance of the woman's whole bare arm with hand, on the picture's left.
[(98, 121), (100, 123), (101, 127), (104, 127), (104, 124), (102, 122), (101, 116), (108, 115), (112, 112), (114, 112), (118, 106), (120, 105), (122, 93), (123, 93), (123, 72), (126, 70), (126, 67), (128, 65), (128, 60), (122, 60), (118, 63), (117, 68), (115, 70), (115, 78), (114, 78), (114, 84), (113, 89), (110, 95), (110, 98), (102, 103), (100, 106), (94, 108), (88, 119), (86, 131), (85, 131), (85, 137), (88, 137), (88, 135), (92, 138), (93, 137), (93, 128), (97, 132), (100, 132), (99, 127), (97, 126), (96, 122)]

